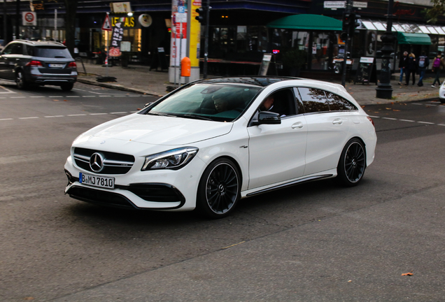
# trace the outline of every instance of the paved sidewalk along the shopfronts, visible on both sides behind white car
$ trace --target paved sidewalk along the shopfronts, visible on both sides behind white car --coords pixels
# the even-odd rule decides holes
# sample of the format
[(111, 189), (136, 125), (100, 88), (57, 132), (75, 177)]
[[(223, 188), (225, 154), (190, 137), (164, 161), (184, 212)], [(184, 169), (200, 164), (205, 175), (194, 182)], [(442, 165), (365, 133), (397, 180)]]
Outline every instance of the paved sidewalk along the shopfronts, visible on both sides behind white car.
[[(150, 71), (149, 66), (129, 65), (128, 68), (121, 66), (102, 67), (97, 64), (84, 63), (87, 75), (83, 73), (83, 66), (78, 62), (78, 82), (90, 85), (98, 85), (113, 89), (120, 89), (129, 92), (138, 92), (142, 94), (152, 94), (155, 96), (163, 96), (167, 94), (167, 86), (174, 86), (169, 82), (169, 73), (167, 71)], [(97, 77), (111, 76), (116, 78), (116, 82), (97, 82)], [(392, 103), (406, 101), (420, 101), (425, 99), (437, 99), (439, 97), (439, 88), (431, 87), (433, 78), (427, 76), (423, 79), (423, 87), (417, 85), (397, 85), (397, 80), (393, 80), (393, 99), (377, 99), (376, 85), (354, 85), (346, 83), (346, 89), (360, 103), (360, 105), (371, 105), (377, 103)], [(418, 80), (418, 75), (416, 76)], [(443, 79), (442, 79), (443, 80)], [(339, 80), (334, 80), (340, 84)]]

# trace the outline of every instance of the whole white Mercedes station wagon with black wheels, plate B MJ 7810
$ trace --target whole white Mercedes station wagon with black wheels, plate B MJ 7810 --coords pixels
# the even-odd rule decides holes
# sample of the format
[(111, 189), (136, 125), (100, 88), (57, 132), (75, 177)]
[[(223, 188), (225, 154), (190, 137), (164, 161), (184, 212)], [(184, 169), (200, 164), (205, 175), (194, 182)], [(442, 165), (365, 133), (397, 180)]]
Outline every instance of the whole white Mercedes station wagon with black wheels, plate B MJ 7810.
[(65, 193), (103, 206), (232, 213), (239, 199), (311, 180), (358, 185), (372, 119), (341, 85), (197, 80), (76, 138)]

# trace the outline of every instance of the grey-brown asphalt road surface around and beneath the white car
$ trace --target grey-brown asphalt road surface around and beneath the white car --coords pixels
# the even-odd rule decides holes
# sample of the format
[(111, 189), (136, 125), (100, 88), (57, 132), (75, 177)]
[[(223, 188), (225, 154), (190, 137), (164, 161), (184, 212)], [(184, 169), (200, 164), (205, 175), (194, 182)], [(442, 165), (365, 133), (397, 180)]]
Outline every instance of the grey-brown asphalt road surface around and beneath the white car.
[(63, 194), (73, 139), (152, 96), (3, 84), (0, 301), (445, 300), (439, 103), (365, 107), (378, 145), (358, 187), (311, 182), (204, 220)]

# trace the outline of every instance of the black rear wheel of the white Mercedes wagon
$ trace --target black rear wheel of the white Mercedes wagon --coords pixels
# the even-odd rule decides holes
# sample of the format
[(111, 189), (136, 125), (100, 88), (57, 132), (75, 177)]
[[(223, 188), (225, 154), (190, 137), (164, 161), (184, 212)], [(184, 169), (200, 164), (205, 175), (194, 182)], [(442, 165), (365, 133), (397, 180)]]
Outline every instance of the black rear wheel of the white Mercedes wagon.
[(346, 187), (358, 185), (365, 174), (365, 145), (358, 138), (351, 138), (341, 152), (337, 166), (337, 182)]

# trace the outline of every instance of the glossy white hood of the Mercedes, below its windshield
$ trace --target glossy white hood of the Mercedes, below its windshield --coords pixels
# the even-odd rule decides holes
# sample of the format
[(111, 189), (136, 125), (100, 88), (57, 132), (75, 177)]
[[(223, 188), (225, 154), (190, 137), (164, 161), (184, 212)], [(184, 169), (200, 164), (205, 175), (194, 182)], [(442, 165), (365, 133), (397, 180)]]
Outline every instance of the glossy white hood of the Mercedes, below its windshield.
[(101, 124), (84, 135), (152, 145), (188, 145), (228, 134), (231, 122), (133, 114)]

